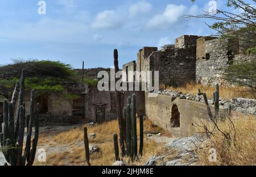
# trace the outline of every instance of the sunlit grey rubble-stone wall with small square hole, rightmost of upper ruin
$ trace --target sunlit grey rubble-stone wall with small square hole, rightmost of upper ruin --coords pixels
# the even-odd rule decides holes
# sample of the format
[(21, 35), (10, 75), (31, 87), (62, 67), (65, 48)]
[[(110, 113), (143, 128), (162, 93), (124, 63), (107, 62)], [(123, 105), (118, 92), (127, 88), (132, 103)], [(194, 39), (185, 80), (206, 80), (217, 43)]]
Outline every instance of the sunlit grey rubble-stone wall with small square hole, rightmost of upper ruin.
[(196, 82), (203, 85), (228, 85), (223, 74), (232, 64), (256, 61), (254, 54), (240, 54), (238, 41), (202, 37), (197, 40)]

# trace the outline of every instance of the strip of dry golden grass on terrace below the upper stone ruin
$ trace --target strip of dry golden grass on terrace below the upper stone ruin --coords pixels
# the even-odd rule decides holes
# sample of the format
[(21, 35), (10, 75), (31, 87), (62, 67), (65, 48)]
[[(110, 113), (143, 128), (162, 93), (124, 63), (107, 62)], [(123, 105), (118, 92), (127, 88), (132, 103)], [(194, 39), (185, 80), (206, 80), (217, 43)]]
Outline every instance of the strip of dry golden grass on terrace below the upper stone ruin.
[[(170, 89), (175, 91), (182, 91), (184, 94), (193, 94), (196, 95), (198, 93), (198, 89), (201, 89), (201, 92), (205, 92), (208, 98), (212, 98), (213, 92), (216, 90), (216, 87), (213, 86), (205, 86), (195, 83), (190, 83), (182, 87), (167, 87), (164, 85), (160, 85), (160, 88)], [(241, 86), (236, 87), (221, 87), (220, 86), (220, 98), (229, 100), (232, 98), (249, 98), (256, 99), (256, 91), (252, 88), (245, 88)]]

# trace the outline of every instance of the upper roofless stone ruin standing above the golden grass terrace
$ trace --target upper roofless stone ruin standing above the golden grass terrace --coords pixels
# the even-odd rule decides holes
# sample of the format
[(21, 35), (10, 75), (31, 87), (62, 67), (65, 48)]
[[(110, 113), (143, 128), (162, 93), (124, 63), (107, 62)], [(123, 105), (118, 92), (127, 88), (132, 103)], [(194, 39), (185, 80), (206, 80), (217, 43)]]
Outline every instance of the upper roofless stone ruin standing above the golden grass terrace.
[[(159, 83), (168, 86), (191, 82), (226, 85), (222, 74), (228, 66), (256, 60), (255, 54), (245, 54), (237, 43), (231, 39), (184, 35), (175, 39), (174, 45), (166, 45), (161, 50), (139, 49), (136, 66), (135, 61), (129, 62), (123, 65), (123, 72), (159, 71)], [(133, 77), (127, 81), (133, 82)]]

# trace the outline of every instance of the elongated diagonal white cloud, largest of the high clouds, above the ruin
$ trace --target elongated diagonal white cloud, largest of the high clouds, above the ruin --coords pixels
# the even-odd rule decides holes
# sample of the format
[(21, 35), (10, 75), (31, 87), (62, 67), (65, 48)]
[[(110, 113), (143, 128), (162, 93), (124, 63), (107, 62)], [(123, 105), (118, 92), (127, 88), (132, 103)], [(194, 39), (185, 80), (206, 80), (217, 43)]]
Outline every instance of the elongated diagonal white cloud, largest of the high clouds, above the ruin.
[(176, 23), (180, 16), (184, 15), (187, 11), (187, 7), (184, 5), (167, 5), (162, 14), (155, 15), (147, 23), (147, 27), (150, 28), (167, 28), (171, 24)]

